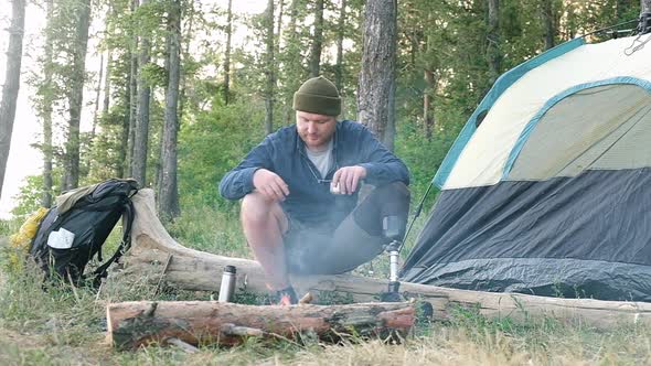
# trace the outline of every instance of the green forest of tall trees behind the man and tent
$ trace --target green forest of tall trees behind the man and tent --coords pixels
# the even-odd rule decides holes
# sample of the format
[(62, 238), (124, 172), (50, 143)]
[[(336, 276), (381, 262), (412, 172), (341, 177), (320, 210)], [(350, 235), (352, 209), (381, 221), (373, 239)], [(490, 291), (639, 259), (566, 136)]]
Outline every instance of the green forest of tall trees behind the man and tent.
[[(22, 185), (19, 217), (50, 206), (62, 191), (111, 176), (154, 187), (162, 217), (198, 206), (236, 211), (218, 196), (217, 182), (265, 134), (294, 122), (292, 93), (314, 75), (341, 90), (342, 118), (367, 125), (405, 160), (418, 198), (501, 73), (640, 13), (638, 0), (29, 6), (44, 23), (40, 46), (25, 55), (33, 67), (20, 82), (22, 93), (32, 92), (31, 118), (41, 126), (33, 147), (43, 168)], [(385, 24), (386, 33), (367, 32), (366, 40), (391, 53), (387, 72), (372, 77), (386, 74), (385, 80), (375, 84), (364, 78), (373, 72), (363, 44), (373, 24), (365, 20)], [(373, 105), (387, 87), (395, 92)]]

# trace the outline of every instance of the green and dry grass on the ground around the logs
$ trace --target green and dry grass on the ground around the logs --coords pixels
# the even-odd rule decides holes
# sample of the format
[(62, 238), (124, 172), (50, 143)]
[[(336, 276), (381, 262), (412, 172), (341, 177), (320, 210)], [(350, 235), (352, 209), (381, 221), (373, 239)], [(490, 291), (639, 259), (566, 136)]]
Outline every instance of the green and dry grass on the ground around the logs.
[[(186, 212), (170, 226), (180, 243), (201, 250), (250, 257), (236, 213), (207, 208)], [(105, 306), (128, 300), (207, 300), (210, 293), (157, 289), (147, 278), (92, 289), (42, 287), (33, 269), (10, 271), (7, 237), (19, 225), (0, 222), (0, 365), (637, 365), (651, 364), (651, 330), (616, 326), (607, 331), (553, 319), (490, 320), (466, 309), (447, 322), (419, 324), (402, 344), (380, 340), (324, 345), (316, 341), (259, 342), (236, 347), (201, 346), (196, 354), (150, 346), (114, 351), (105, 341)], [(210, 227), (210, 230), (205, 230)], [(119, 233), (109, 237), (116, 247)], [(113, 249), (107, 248), (106, 254)], [(385, 276), (381, 258), (359, 272)], [(345, 297), (333, 293), (333, 302)], [(341, 298), (341, 299), (340, 299)], [(243, 302), (253, 301), (246, 297)]]

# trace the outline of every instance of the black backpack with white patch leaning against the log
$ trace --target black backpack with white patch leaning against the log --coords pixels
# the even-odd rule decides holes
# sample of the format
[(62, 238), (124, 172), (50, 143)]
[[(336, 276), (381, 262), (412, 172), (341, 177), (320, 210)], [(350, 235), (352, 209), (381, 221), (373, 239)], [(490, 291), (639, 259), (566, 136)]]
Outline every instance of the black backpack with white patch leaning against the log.
[(55, 274), (65, 282), (81, 284), (88, 261), (95, 255), (103, 261), (102, 246), (124, 216), (124, 235), (117, 251), (93, 272), (93, 286), (99, 286), (108, 267), (130, 247), (131, 197), (137, 192), (135, 180), (111, 179), (58, 196), (30, 246), (30, 256), (45, 271), (46, 278)]

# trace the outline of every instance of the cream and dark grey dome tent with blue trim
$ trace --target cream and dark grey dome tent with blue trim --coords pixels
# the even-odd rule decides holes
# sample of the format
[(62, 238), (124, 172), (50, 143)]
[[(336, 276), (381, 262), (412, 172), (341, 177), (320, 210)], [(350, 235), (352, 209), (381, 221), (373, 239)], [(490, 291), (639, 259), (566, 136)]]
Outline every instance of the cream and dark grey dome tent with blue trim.
[(576, 39), (495, 82), (403, 280), (651, 301), (651, 43), (633, 41)]

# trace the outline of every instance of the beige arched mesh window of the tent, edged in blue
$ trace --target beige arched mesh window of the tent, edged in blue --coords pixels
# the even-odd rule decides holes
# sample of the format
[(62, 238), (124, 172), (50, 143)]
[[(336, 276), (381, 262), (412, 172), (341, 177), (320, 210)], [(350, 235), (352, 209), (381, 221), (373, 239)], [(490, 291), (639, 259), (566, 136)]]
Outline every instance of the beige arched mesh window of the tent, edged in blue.
[(533, 129), (509, 181), (651, 166), (651, 94), (631, 84), (586, 88), (554, 104)]

